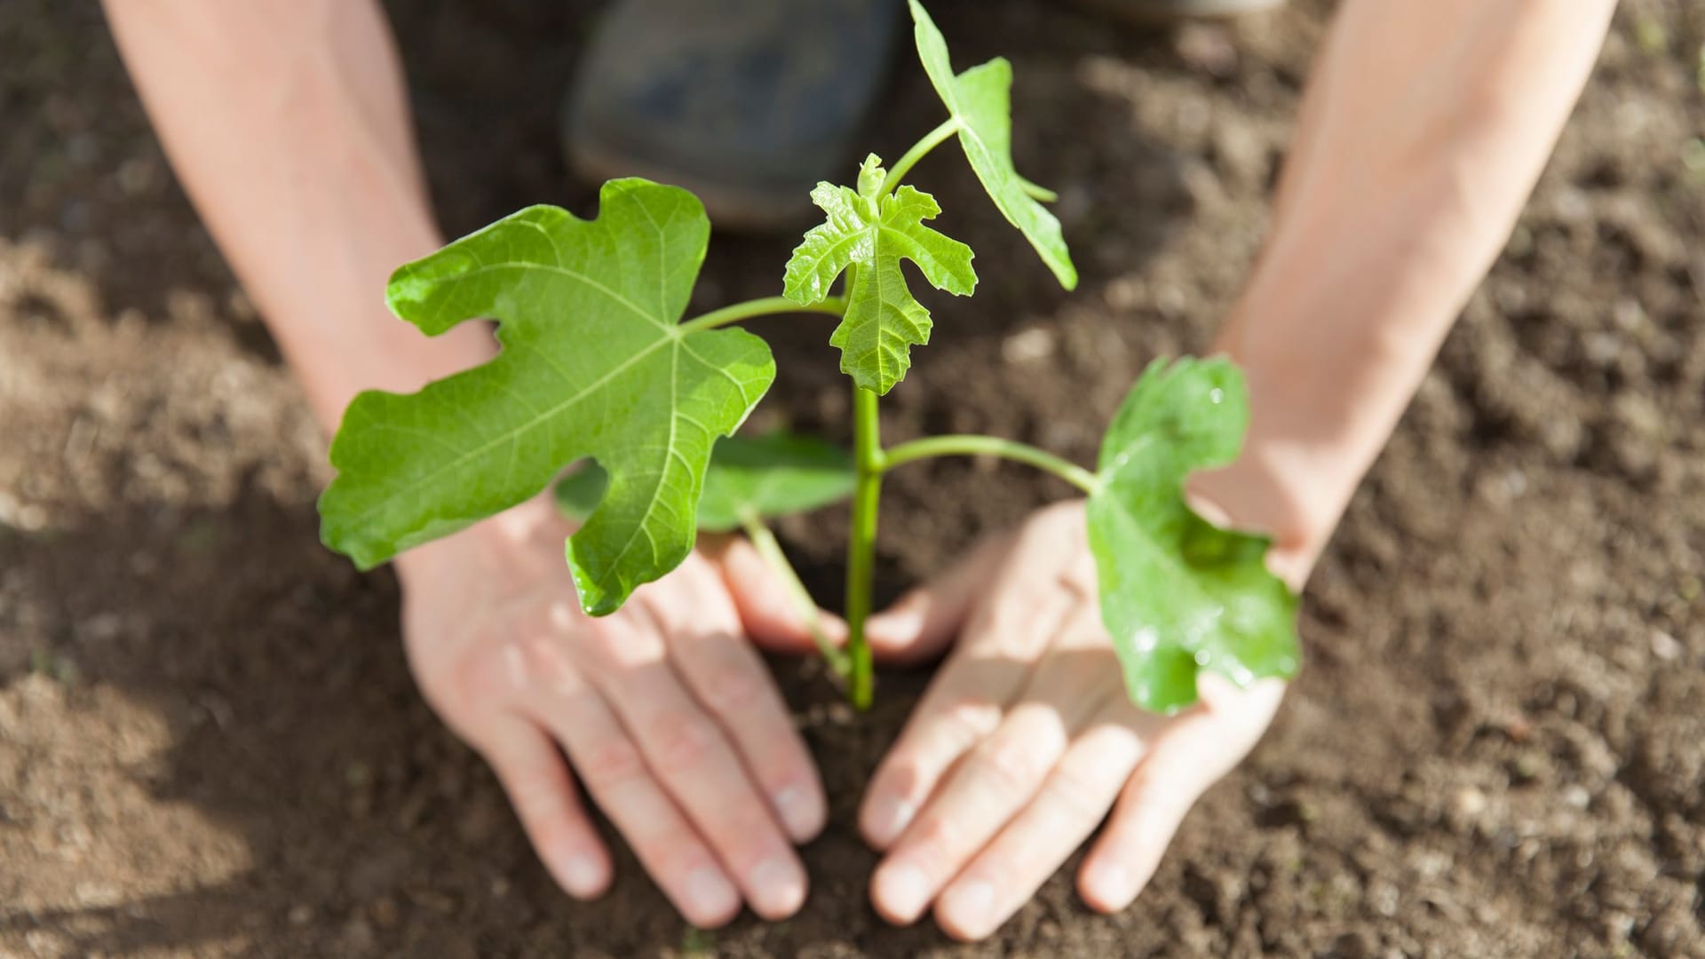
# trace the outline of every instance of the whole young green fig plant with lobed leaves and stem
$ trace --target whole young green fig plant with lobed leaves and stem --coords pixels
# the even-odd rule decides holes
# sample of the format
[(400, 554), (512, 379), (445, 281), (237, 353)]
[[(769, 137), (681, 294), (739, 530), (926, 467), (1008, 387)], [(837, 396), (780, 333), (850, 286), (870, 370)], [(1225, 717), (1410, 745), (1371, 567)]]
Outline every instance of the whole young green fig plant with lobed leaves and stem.
[[(419, 392), (370, 391), (350, 404), (331, 447), (338, 476), (319, 503), (324, 541), (370, 568), (537, 495), (585, 459), (595, 466), (563, 480), (558, 502), (583, 519), (566, 553), (588, 614), (614, 613), (680, 565), (701, 529), (745, 529), (815, 618), (764, 520), (851, 497), (847, 643), (818, 640), (866, 706), (881, 478), (926, 457), (989, 454), (1088, 497), (1101, 619), (1132, 701), (1183, 708), (1202, 669), (1238, 684), (1294, 674), (1296, 597), (1263, 565), (1269, 541), (1216, 527), (1183, 497), (1192, 471), (1231, 462), (1243, 442), (1248, 396), (1228, 360), (1151, 363), (1093, 471), (997, 437), (881, 445), (878, 401), (931, 331), (900, 261), (948, 294), (977, 285), (970, 247), (926, 225), (941, 212), (934, 198), (902, 183), (919, 159), (957, 138), (1061, 285), (1078, 282), (1059, 220), (1040, 203), (1054, 195), (1013, 167), (1011, 67), (996, 58), (953, 73), (941, 32), (910, 7), (948, 119), (892, 169), (871, 155), (854, 186), (817, 184), (825, 222), (793, 251), (781, 297), (682, 321), (709, 222), (691, 193), (644, 179), (604, 184), (595, 220), (529, 206), (397, 270), (387, 300), (399, 317), (426, 334), (494, 317), (503, 350)], [(829, 341), (852, 379), (851, 454), (805, 437), (733, 437), (776, 367), (762, 340), (728, 326), (793, 311), (839, 317)]]

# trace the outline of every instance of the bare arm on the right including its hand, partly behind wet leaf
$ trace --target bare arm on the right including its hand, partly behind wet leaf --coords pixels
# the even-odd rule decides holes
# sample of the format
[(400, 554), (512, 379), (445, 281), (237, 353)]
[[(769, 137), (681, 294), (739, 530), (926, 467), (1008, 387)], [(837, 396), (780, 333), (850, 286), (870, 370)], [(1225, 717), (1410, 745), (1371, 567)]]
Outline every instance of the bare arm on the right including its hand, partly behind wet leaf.
[[(1504, 244), (1611, 9), (1345, 0), (1272, 235), (1219, 341), (1248, 374), (1250, 440), (1195, 483), (1240, 526), (1275, 534), (1275, 572), (1292, 584)], [(1078, 889), (1122, 910), (1190, 804), (1260, 739), (1277, 681), (1211, 677), (1175, 717), (1130, 706), (1093, 596), (1081, 507), (1066, 505), (871, 621), (897, 652), (958, 643), (864, 799), (861, 828), (885, 851), (871, 881), (883, 916), (910, 921), (933, 903), (951, 935), (989, 935), (1108, 809)], [(980, 669), (992, 659), (1028, 672), (994, 677)]]

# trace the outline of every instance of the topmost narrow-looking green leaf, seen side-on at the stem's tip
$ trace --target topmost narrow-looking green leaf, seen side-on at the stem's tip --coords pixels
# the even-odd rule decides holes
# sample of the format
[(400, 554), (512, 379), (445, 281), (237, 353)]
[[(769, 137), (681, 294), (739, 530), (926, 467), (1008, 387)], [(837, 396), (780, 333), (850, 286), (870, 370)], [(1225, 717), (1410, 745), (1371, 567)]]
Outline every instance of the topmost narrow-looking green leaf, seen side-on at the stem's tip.
[(922, 3), (910, 2), (917, 56), (924, 61), (924, 72), (929, 73), (929, 82), (941, 96), (941, 102), (958, 119), (958, 140), (960, 147), (965, 148), (965, 159), (970, 160), (970, 169), (977, 172), (982, 188), (989, 191), (1006, 220), (1025, 234), (1030, 246), (1037, 247), (1061, 287), (1074, 288), (1078, 268), (1072, 266), (1066, 239), (1061, 235), (1061, 222), (1042, 203), (1037, 203), (1038, 196), (1052, 198), (1054, 195), (1018, 176), (1013, 167), (1013, 65), (1006, 58), (996, 56), (955, 77), (946, 39), (924, 12)]

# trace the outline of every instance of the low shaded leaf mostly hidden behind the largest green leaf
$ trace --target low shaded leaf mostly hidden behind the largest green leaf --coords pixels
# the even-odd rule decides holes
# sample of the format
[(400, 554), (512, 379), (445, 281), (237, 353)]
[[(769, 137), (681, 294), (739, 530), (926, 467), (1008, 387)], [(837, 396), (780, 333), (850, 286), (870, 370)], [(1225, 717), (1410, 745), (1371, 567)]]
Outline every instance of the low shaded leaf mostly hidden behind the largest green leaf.
[[(587, 462), (556, 485), (563, 515), (585, 520), (604, 498), (609, 474)], [(699, 529), (728, 532), (747, 519), (803, 514), (852, 495), (852, 456), (825, 440), (774, 432), (716, 442), (699, 498)]]

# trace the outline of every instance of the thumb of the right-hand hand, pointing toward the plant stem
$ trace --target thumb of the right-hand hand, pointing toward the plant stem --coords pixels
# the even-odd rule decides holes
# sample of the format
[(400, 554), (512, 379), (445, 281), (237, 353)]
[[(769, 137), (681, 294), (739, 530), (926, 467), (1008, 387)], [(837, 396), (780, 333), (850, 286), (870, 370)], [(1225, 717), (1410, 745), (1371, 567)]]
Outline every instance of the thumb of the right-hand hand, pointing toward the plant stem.
[(984, 539), (948, 572), (871, 616), (864, 623), (871, 652), (887, 662), (939, 655), (987, 596), (1011, 543), (1011, 534)]

